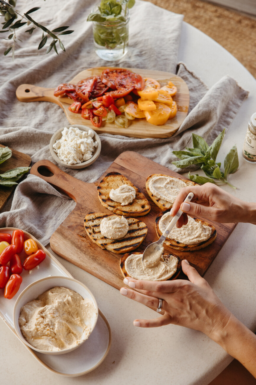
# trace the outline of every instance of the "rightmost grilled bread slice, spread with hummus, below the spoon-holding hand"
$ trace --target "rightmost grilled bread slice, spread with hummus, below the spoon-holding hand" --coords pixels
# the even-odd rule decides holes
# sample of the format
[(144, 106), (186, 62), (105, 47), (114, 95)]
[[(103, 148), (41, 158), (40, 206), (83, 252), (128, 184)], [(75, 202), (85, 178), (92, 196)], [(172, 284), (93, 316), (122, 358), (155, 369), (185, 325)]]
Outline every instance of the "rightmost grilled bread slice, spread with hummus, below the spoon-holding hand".
[[(159, 213), (157, 218), (155, 219), (155, 228), (156, 228), (156, 231), (157, 231), (157, 236), (159, 238), (162, 235), (162, 232), (159, 229), (159, 221), (160, 221), (160, 219), (162, 218), (162, 216), (165, 213), (168, 213), (168, 210), (166, 210), (166, 211), (164, 211), (162, 213)], [(216, 231), (215, 227), (212, 226), (210, 223), (202, 221), (201, 219), (197, 219), (197, 218), (194, 218), (194, 217), (192, 217), (192, 218), (195, 219), (195, 221), (201, 222), (203, 225), (209, 226), (211, 228), (210, 238), (206, 239), (206, 241), (203, 241), (203, 242), (200, 242), (200, 243), (195, 243), (195, 244), (189, 244), (189, 245), (188, 244), (184, 244), (184, 243), (180, 243), (178, 241), (175, 241), (174, 239), (166, 238), (165, 241), (164, 241), (164, 244), (166, 246), (170, 246), (171, 248), (176, 249), (176, 250), (194, 251), (194, 250), (203, 249), (206, 246), (208, 246), (209, 244), (213, 243), (213, 241), (216, 239), (216, 236), (217, 236), (217, 231)]]

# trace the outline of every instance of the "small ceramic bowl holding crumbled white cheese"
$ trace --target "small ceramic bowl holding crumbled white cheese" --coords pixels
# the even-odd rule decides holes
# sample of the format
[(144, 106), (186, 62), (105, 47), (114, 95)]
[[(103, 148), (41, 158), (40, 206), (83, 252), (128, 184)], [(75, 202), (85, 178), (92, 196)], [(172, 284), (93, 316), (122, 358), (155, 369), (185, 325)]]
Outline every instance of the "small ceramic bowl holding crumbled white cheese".
[[(67, 128), (69, 128), (69, 127), (77, 127), (77, 128), (79, 128), (79, 130), (87, 131), (87, 132), (89, 130), (92, 130), (90, 127), (82, 126), (81, 124), (68, 124), (65, 127), (67, 127)], [(76, 163), (76, 164), (66, 164), (65, 162), (63, 162), (63, 161), (61, 161), (59, 159), (59, 157), (57, 156), (56, 152), (53, 150), (53, 144), (55, 144), (55, 142), (58, 141), (61, 138), (61, 136), (62, 136), (61, 132), (63, 131), (63, 129), (64, 129), (64, 127), (60, 128), (51, 137), (51, 140), (50, 140), (50, 152), (51, 152), (51, 156), (53, 157), (53, 159), (56, 162), (58, 162), (59, 164), (61, 164), (62, 166), (67, 167), (67, 168), (71, 168), (71, 169), (80, 169), (80, 168), (88, 167), (92, 163), (94, 163), (96, 161), (96, 159), (99, 157), (99, 154), (101, 153), (101, 139), (99, 139), (99, 135), (94, 130), (92, 130), (92, 132), (94, 133), (94, 136), (93, 136), (92, 139), (94, 140), (94, 142), (98, 143), (98, 147), (94, 150), (94, 152), (92, 152), (91, 159), (88, 159), (88, 161), (85, 161), (85, 162), (82, 162), (82, 163)]]

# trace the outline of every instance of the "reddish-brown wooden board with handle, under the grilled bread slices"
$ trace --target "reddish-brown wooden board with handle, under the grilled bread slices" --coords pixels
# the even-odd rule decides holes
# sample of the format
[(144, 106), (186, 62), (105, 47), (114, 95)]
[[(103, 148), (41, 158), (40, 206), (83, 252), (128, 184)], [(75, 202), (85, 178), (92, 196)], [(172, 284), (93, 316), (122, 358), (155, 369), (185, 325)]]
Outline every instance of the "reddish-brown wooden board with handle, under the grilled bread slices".
[[(136, 249), (136, 251), (143, 252), (150, 243), (158, 239), (155, 231), (155, 218), (160, 212), (160, 209), (150, 200), (147, 194), (145, 188), (146, 178), (150, 174), (158, 173), (182, 177), (182, 179), (186, 178), (132, 151), (123, 152), (119, 155), (104, 175), (111, 171), (120, 172), (130, 179), (145, 194), (151, 205), (149, 214), (136, 217), (147, 224), (148, 227), (145, 240)], [(120, 289), (123, 286), (123, 277), (119, 268), (119, 260), (122, 254), (102, 250), (89, 239), (84, 229), (84, 217), (89, 212), (112, 213), (112, 211), (104, 208), (98, 199), (97, 186), (102, 176), (94, 183), (82, 182), (61, 171), (47, 160), (36, 162), (30, 172), (43, 178), (76, 202), (76, 207), (51, 236), (50, 245), (53, 251), (109, 285)], [(217, 238), (206, 248), (185, 252), (165, 246), (172, 254), (178, 255), (181, 259), (187, 259), (202, 276), (236, 226), (235, 223), (218, 224), (209, 220), (207, 222), (215, 226)]]

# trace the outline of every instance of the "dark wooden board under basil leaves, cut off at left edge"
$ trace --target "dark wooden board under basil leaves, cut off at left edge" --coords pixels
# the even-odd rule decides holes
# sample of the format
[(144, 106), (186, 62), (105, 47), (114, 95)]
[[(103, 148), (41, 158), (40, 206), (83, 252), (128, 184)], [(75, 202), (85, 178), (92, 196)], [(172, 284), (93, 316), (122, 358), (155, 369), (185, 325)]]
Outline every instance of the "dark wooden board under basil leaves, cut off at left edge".
[[(2, 144), (0, 144), (0, 147), (6, 147), (6, 146), (3, 146)], [(12, 148), (11, 150), (12, 150), (12, 156), (9, 159), (7, 159), (5, 162), (0, 164), (0, 174), (16, 167), (28, 167), (31, 164), (30, 156), (23, 154), (23, 152), (13, 150)], [(5, 205), (9, 196), (12, 194), (12, 191), (15, 189), (15, 186), (12, 186), (12, 187), (0, 186), (0, 210)]]

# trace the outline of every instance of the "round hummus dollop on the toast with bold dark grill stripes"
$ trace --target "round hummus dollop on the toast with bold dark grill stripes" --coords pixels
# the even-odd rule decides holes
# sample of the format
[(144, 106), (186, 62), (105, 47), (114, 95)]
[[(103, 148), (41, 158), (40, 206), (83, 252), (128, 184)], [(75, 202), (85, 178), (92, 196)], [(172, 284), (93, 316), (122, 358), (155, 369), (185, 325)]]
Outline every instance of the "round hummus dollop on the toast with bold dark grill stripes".
[(119, 239), (127, 234), (129, 224), (127, 219), (123, 216), (121, 218), (119, 216), (116, 216), (115, 218), (105, 217), (102, 219), (99, 229), (104, 237), (109, 239)]

